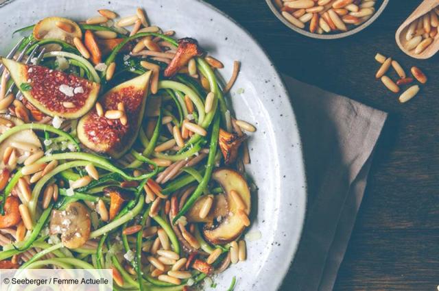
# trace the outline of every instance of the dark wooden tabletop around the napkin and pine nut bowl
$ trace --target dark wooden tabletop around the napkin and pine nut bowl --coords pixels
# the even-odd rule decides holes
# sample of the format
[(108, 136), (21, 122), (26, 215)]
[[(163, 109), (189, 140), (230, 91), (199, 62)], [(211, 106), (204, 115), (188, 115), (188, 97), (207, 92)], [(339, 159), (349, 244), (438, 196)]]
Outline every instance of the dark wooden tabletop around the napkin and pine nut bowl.
[[(278, 71), (389, 113), (335, 290), (436, 290), (439, 284), (439, 55), (415, 60), (396, 29), (421, 1), (391, 0), (366, 30), (314, 40), (283, 25), (263, 0), (210, 0), (243, 25)], [(375, 53), (429, 81), (410, 102), (375, 80)], [(288, 288), (283, 288), (288, 290)]]

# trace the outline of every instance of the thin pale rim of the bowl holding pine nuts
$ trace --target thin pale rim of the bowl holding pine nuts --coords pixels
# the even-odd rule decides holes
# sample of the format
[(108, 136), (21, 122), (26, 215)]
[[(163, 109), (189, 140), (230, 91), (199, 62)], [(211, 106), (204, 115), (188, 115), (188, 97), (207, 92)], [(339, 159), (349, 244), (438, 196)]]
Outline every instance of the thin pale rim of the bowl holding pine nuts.
[(378, 18), (378, 16), (381, 15), (381, 13), (383, 13), (385, 7), (389, 3), (389, 0), (383, 0), (383, 3), (381, 3), (381, 6), (377, 10), (377, 12), (375, 12), (375, 14), (373, 14), (372, 17), (370, 17), (365, 23), (362, 23), (361, 25), (349, 31), (342, 32), (341, 34), (312, 34), (311, 32), (306, 31), (305, 29), (300, 29), (295, 25), (292, 25), (292, 23), (289, 23), (285, 18), (283, 18), (282, 14), (278, 12), (276, 5), (273, 4), (272, 0), (265, 0), (265, 2), (267, 2), (268, 7), (270, 7), (270, 10), (272, 10), (273, 14), (278, 18), (278, 20), (280, 20), (283, 24), (287, 25), (287, 27), (293, 29), (299, 34), (308, 36), (309, 38), (318, 38), (322, 40), (335, 40), (337, 38), (346, 38), (346, 36), (352, 36), (353, 34), (356, 34), (357, 32), (368, 27), (370, 24), (372, 24), (372, 22), (374, 22)]

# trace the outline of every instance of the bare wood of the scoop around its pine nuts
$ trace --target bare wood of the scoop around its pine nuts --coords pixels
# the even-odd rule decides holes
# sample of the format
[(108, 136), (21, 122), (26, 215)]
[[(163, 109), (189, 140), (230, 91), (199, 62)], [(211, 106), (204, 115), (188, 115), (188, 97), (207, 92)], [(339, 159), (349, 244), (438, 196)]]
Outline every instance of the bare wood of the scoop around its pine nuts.
[[(418, 19), (420, 16), (423, 16), (424, 14), (427, 14), (430, 12), (433, 8), (439, 5), (439, 0), (424, 0), (423, 3), (420, 3), (418, 8), (414, 10), (414, 12), (404, 21), (404, 23), (399, 27), (398, 30), (396, 30), (396, 43), (398, 44), (399, 48), (406, 53), (407, 55), (410, 55), (412, 58), (416, 59), (427, 59), (431, 58), (435, 53), (439, 51), (439, 36), (435, 36), (433, 38), (433, 42), (427, 49), (425, 49), (422, 53), (414, 53), (414, 49), (411, 51), (408, 51), (405, 49), (405, 45), (407, 44), (407, 30), (409, 29), (410, 24)], [(436, 27), (434, 27), (436, 29)]]

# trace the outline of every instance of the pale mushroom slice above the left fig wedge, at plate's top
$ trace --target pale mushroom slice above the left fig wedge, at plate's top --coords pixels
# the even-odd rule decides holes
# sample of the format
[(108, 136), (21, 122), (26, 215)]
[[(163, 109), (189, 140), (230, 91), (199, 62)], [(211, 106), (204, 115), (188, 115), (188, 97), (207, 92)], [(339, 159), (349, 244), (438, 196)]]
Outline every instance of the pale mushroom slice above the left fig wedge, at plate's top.
[(34, 38), (56, 38), (73, 45), (73, 38), (82, 38), (82, 31), (77, 23), (62, 17), (47, 17), (36, 23)]

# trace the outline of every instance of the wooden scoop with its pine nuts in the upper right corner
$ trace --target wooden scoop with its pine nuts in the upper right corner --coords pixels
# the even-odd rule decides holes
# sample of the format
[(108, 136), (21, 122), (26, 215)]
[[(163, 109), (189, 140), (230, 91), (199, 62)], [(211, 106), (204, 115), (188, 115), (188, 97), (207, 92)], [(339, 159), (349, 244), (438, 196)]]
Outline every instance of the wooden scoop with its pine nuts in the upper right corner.
[(438, 18), (439, 1), (424, 0), (396, 30), (396, 44), (412, 58), (431, 58), (439, 51)]

